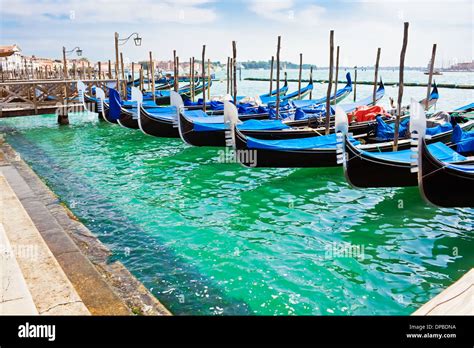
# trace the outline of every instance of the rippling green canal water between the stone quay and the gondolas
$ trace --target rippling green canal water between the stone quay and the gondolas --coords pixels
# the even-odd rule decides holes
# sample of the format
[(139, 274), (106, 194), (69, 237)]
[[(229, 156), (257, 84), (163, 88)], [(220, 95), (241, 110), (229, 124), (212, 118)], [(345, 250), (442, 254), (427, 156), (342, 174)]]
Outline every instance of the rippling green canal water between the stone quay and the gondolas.
[[(70, 116), (0, 120), (8, 143), (175, 314), (405, 315), (474, 265), (472, 209), (341, 168), (247, 169)], [(448, 183), (447, 183), (448, 184)]]

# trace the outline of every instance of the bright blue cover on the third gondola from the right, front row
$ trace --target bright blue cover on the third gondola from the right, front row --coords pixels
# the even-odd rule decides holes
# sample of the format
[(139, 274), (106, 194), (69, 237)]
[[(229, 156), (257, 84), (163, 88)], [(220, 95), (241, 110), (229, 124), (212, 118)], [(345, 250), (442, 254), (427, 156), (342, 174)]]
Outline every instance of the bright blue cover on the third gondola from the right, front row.
[[(359, 142), (350, 138), (354, 145)], [(275, 151), (292, 151), (308, 149), (335, 149), (337, 145), (336, 134), (321, 135), (310, 138), (284, 139), (284, 140), (263, 140), (247, 137), (247, 147), (249, 149), (263, 149)]]

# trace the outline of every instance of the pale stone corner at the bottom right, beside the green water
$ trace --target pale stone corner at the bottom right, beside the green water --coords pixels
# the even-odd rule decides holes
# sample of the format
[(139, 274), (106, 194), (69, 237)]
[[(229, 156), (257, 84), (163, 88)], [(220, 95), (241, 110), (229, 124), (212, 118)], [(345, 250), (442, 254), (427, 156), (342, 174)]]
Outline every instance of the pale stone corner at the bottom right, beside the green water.
[(413, 315), (474, 315), (474, 268)]

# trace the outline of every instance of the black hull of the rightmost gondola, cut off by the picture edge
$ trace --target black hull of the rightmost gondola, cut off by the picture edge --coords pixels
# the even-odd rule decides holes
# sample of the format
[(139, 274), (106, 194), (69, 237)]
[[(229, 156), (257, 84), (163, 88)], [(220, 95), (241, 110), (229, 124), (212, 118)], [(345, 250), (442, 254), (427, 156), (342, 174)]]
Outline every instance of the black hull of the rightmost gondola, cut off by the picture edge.
[(422, 138), (418, 153), (418, 185), (421, 196), (438, 207), (474, 208), (474, 164), (451, 164), (437, 159)]

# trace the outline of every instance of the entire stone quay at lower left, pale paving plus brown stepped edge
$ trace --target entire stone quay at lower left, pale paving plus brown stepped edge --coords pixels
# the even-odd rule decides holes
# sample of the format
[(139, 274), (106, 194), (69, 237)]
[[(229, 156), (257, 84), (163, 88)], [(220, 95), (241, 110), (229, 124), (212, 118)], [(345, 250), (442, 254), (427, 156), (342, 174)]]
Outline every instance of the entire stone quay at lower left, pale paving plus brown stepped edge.
[(171, 314), (1, 141), (0, 251), (0, 315)]

